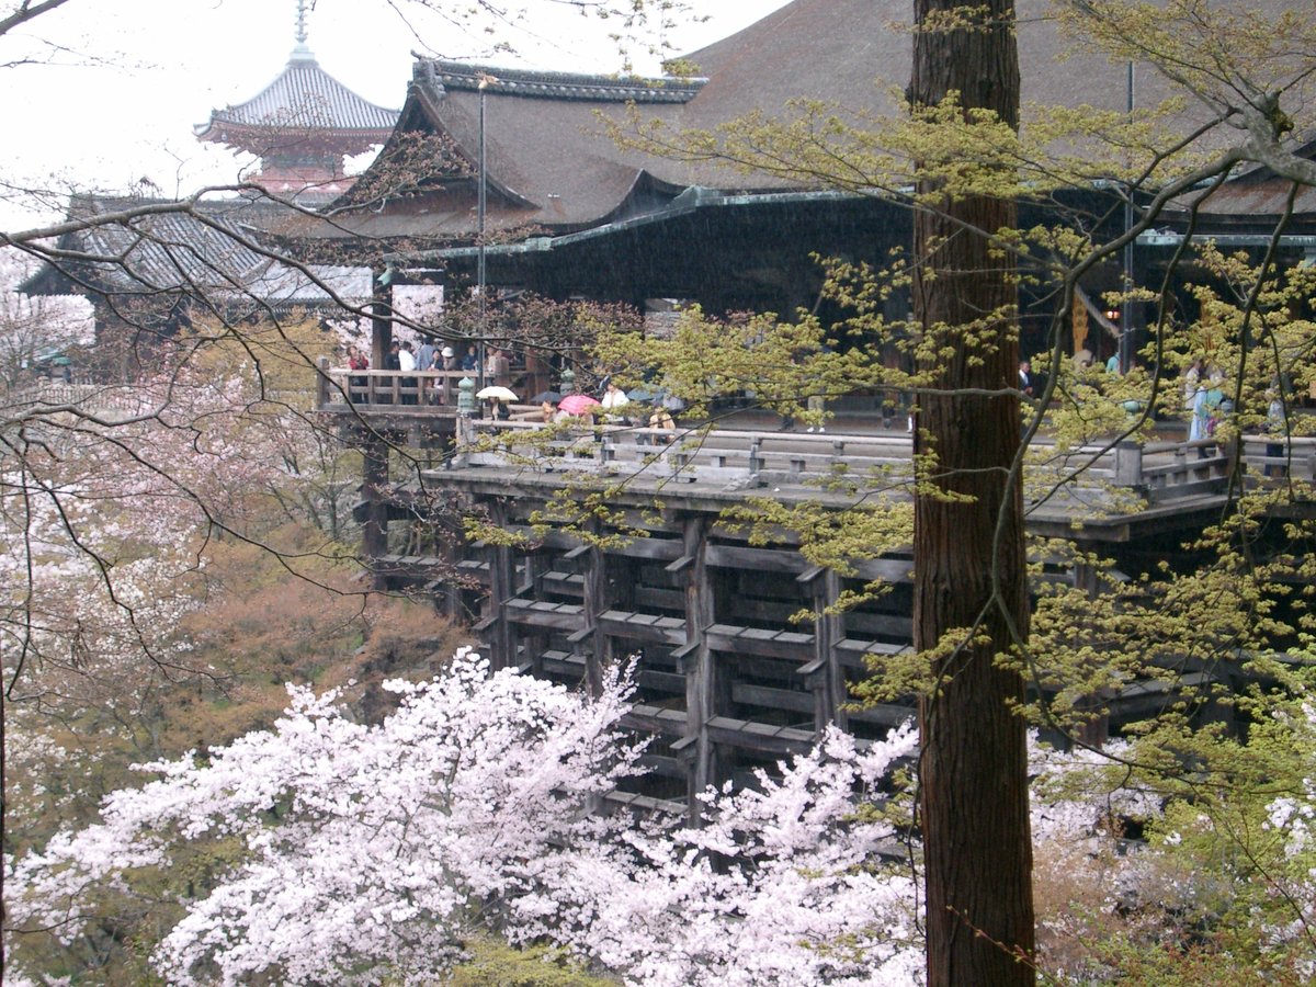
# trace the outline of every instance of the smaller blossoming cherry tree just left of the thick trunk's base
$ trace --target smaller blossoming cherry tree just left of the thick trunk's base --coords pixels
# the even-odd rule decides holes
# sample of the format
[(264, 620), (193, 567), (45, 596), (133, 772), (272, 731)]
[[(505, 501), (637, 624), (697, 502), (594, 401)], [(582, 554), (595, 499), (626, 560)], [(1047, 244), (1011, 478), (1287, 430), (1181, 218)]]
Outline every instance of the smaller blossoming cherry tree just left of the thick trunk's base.
[(707, 825), (628, 834), (642, 863), (594, 867), (595, 909), (554, 934), (645, 984), (919, 982), (908, 792), (892, 783), (916, 747), (912, 724), (866, 746), (829, 729), (780, 776), (709, 790)]

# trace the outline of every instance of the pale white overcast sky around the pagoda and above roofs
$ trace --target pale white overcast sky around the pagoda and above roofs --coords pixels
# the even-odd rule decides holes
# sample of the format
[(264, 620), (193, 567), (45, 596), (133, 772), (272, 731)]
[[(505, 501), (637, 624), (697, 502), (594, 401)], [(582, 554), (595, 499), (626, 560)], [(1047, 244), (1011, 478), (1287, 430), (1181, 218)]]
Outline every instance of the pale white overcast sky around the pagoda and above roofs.
[[(703, 47), (786, 3), (690, 0), (711, 20), (675, 32), (675, 53)], [(12, 7), (0, 4), (0, 12)], [(401, 108), (412, 51), (558, 71), (621, 68), (616, 42), (607, 38), (615, 22), (582, 17), (557, 0), (504, 7), (525, 7), (530, 16), (480, 36), (408, 0), (317, 0), (307, 43), (340, 82), (392, 109)], [(49, 187), (55, 201), (70, 187), (121, 191), (142, 178), (161, 195), (233, 180), (238, 161), (203, 146), (193, 126), (212, 109), (257, 95), (283, 70), (296, 43), (296, 0), (68, 0), (0, 38), (0, 64), (9, 66), (0, 89), (0, 180)], [(495, 42), (525, 54), (494, 51)], [(637, 71), (658, 71), (657, 58), (633, 54)], [(28, 55), (39, 62), (9, 64)], [(14, 229), (14, 211), (7, 213)]]

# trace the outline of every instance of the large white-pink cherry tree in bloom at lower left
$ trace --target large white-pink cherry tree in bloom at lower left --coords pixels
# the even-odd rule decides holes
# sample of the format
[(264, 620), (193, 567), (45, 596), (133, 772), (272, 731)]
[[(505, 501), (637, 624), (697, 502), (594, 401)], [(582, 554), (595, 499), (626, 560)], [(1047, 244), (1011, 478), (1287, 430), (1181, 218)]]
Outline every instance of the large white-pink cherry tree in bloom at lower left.
[(487, 926), (538, 928), (563, 862), (621, 825), (591, 804), (640, 749), (617, 728), (626, 684), (597, 700), (459, 653), (383, 724), (291, 688), (271, 732), (111, 797), (104, 821), (12, 871), (16, 915), (76, 933), (91, 886), (166, 866), (170, 844), (237, 838), (245, 854), (157, 950), (174, 983), (432, 980)]

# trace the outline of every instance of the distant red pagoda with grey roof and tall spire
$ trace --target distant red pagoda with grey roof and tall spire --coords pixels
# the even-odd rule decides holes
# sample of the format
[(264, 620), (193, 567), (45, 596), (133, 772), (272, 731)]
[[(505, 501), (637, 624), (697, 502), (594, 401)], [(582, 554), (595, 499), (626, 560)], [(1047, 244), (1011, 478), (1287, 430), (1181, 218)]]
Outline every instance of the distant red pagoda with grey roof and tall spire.
[(296, 39), (274, 82), (246, 103), (212, 111), (196, 136), (259, 158), (249, 180), (267, 192), (329, 200), (354, 182), (343, 174), (343, 157), (383, 145), (397, 112), (368, 103), (320, 67), (307, 46), (305, 0), (297, 0)]

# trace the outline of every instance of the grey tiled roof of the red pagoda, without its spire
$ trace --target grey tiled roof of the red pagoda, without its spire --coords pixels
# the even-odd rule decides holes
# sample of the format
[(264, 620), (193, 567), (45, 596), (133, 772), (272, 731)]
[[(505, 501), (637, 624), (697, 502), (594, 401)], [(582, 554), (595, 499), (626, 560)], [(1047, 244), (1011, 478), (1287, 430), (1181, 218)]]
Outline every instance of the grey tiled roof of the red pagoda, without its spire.
[(274, 82), (246, 103), (213, 111), (196, 126), (196, 136), (263, 154), (271, 134), (295, 132), (305, 139), (320, 132), (343, 153), (355, 153), (383, 143), (396, 122), (397, 111), (358, 96), (321, 68), (303, 43)]

